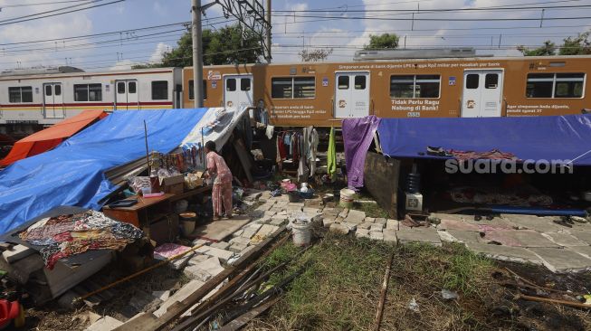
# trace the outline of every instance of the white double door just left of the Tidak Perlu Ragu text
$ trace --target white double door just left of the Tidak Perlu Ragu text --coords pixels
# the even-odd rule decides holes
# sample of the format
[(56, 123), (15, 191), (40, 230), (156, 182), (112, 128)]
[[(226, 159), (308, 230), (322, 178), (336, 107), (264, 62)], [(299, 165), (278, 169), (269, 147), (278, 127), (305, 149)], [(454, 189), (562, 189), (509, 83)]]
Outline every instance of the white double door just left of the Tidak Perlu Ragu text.
[(335, 81), (335, 117), (369, 115), (369, 72), (337, 72)]

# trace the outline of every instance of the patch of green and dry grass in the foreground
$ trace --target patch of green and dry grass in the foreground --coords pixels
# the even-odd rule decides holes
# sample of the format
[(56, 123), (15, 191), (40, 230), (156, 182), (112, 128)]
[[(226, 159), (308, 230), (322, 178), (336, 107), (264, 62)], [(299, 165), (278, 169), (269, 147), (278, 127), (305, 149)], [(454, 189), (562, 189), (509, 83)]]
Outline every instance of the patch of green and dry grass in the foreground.
[[(270, 269), (290, 260), (299, 250), (288, 242), (273, 251), (263, 266)], [(491, 314), (486, 311), (496, 300), (490, 298), (494, 283), (491, 273), (495, 270), (491, 260), (461, 245), (392, 247), (330, 232), (294, 259), (281, 275), (269, 280), (277, 283), (309, 263), (268, 316), (254, 320), (247, 329), (371, 329), (390, 252), (394, 260), (382, 329), (494, 329)], [(443, 288), (457, 291), (460, 298), (444, 301), (440, 294)], [(419, 304), (419, 313), (407, 307), (412, 298)]]

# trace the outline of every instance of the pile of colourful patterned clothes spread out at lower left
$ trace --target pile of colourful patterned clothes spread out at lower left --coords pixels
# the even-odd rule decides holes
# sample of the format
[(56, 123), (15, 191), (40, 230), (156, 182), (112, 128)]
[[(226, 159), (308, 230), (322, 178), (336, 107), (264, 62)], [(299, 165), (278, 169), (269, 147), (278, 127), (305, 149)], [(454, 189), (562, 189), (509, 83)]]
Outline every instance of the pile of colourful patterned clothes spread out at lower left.
[(129, 243), (142, 238), (144, 233), (129, 223), (88, 211), (45, 218), (18, 236), (32, 245), (41, 246), (45, 267), (52, 270), (58, 260), (86, 251), (121, 251)]

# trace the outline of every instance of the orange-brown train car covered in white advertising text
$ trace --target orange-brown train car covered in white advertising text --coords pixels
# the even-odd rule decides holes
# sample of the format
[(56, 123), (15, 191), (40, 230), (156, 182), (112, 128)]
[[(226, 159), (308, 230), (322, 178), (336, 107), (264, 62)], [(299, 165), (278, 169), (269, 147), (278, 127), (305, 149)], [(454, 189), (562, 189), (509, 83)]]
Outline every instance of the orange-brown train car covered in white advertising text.
[[(342, 118), (505, 117), (591, 108), (591, 56), (469, 57), (204, 68), (205, 107), (259, 106), (281, 127)], [(183, 71), (193, 107), (193, 69)]]

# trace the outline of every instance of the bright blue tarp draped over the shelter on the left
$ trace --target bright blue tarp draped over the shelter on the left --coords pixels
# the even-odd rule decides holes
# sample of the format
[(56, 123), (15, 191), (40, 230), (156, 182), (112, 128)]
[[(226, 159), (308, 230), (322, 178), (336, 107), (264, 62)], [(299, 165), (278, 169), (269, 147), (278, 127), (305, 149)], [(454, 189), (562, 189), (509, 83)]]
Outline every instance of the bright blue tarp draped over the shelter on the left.
[(146, 155), (178, 147), (207, 109), (120, 110), (52, 151), (0, 172), (0, 233), (59, 206), (99, 210), (115, 187), (104, 172)]

